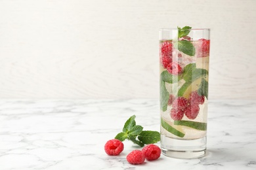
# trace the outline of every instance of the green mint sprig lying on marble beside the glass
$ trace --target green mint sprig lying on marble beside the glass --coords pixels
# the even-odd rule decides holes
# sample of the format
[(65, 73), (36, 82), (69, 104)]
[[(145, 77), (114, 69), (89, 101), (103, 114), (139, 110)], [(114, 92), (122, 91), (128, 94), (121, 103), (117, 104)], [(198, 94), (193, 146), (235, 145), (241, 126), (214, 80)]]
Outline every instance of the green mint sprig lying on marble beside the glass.
[(143, 131), (142, 126), (136, 125), (135, 115), (133, 115), (125, 122), (123, 131), (118, 133), (115, 139), (119, 141), (127, 139), (142, 147), (144, 144), (158, 143), (160, 133), (158, 131)]

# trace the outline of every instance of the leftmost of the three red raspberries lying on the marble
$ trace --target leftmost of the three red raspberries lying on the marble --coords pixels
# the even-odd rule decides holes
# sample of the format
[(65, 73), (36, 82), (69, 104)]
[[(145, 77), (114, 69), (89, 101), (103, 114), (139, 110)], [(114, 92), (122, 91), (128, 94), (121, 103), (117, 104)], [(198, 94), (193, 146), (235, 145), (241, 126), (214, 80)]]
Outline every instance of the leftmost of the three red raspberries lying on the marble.
[(112, 139), (106, 142), (104, 146), (105, 152), (108, 155), (119, 155), (123, 151), (123, 143), (118, 139)]

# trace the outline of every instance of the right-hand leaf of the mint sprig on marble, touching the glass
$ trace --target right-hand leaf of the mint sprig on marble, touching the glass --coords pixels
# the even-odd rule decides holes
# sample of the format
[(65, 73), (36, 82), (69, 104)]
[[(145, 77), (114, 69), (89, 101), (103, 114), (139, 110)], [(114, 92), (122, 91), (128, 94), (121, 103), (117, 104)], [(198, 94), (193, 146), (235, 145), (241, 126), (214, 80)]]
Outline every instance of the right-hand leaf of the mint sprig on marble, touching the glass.
[(160, 133), (158, 131), (142, 131), (138, 139), (144, 144), (157, 143), (160, 141)]

